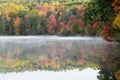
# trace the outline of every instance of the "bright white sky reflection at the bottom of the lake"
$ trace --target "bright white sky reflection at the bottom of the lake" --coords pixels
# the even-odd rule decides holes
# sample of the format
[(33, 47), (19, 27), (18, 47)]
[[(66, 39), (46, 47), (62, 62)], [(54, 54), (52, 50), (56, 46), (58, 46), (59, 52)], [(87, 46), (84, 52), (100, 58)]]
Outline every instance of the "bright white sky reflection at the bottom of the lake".
[(34, 71), (0, 74), (0, 80), (98, 80), (98, 70)]

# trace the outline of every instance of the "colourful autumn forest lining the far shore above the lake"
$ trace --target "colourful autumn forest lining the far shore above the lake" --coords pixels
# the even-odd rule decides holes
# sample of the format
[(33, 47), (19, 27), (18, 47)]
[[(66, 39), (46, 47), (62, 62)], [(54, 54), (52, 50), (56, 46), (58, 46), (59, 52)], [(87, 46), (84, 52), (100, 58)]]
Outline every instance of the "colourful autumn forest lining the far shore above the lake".
[(81, 35), (120, 40), (119, 0), (1, 0), (0, 35)]

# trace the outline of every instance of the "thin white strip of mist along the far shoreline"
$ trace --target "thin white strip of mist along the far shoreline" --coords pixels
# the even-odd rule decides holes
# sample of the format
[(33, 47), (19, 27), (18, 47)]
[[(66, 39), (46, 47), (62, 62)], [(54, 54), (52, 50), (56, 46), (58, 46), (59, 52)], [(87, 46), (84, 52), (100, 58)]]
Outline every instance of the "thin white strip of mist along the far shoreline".
[(0, 36), (1, 41), (9, 40), (103, 40), (100, 37), (80, 37), (80, 36), (69, 36), (69, 37), (60, 37), (60, 36)]

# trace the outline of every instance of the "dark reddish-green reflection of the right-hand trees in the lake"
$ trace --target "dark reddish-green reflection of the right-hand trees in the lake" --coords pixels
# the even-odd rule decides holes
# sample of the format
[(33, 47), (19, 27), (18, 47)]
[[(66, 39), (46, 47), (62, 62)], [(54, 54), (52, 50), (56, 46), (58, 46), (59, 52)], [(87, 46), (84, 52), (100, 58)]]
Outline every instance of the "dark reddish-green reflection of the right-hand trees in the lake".
[[(115, 72), (120, 69), (120, 44), (105, 44), (103, 51), (95, 53), (91, 58), (99, 65), (99, 80), (116, 80)], [(96, 58), (94, 58), (96, 57)]]

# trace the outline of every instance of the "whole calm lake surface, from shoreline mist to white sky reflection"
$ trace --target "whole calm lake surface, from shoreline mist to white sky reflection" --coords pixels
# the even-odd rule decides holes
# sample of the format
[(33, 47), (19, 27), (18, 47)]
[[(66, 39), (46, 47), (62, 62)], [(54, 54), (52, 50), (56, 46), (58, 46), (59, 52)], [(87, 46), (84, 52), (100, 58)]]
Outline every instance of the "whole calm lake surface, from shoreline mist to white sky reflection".
[(119, 49), (100, 37), (1, 36), (0, 80), (98, 80), (119, 69)]

